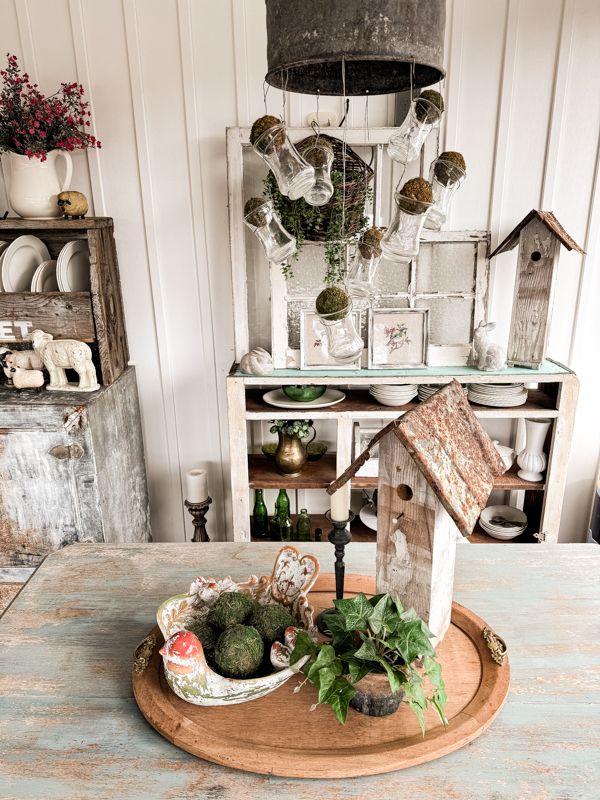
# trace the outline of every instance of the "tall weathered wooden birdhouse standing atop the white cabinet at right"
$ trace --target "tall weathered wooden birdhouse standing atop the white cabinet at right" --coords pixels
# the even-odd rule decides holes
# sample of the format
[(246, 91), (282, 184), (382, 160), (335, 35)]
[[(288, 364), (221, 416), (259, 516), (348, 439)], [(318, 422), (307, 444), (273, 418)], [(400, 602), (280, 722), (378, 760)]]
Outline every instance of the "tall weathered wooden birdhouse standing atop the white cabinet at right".
[(551, 211), (530, 211), (490, 258), (519, 244), (507, 362), (539, 369), (546, 358), (560, 245), (584, 251)]

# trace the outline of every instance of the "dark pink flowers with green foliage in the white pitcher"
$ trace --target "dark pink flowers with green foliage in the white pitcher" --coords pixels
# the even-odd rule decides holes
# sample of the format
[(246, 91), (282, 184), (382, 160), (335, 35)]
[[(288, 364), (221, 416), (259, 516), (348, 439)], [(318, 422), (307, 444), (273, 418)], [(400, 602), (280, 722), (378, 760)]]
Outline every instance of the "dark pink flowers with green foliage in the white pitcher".
[(83, 101), (83, 86), (62, 83), (56, 94), (44, 97), (26, 72), (21, 75), (16, 56), (7, 58), (6, 70), (0, 70), (0, 152), (45, 161), (51, 150), (101, 147), (86, 131), (91, 114)]

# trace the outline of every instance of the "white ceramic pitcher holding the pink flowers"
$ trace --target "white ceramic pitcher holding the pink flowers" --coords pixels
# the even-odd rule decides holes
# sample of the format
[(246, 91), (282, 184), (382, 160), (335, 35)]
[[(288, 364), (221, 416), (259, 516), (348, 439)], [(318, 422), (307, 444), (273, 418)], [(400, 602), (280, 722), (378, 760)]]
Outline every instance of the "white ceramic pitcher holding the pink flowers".
[[(54, 219), (62, 217), (57, 195), (66, 192), (71, 185), (73, 162), (66, 150), (50, 150), (46, 160), (29, 158), (9, 152), (10, 192), (13, 211), (24, 219)], [(56, 157), (63, 156), (67, 163), (67, 175), (60, 181), (56, 172)]]

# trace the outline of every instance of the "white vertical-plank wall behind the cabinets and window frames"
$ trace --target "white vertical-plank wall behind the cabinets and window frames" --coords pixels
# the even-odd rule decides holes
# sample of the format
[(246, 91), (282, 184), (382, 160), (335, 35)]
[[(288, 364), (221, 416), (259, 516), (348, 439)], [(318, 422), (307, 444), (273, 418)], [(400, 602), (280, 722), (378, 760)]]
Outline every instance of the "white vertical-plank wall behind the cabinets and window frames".
[[(465, 154), (469, 176), (450, 227), (489, 228), (495, 246), (543, 208), (587, 251), (561, 254), (550, 347), (582, 382), (563, 541), (585, 537), (600, 449), (599, 37), (597, 0), (448, 0), (441, 144)], [(233, 346), (225, 127), (263, 113), (264, 0), (0, 0), (7, 52), (42, 91), (77, 79), (92, 103), (103, 147), (76, 154), (73, 188), (115, 220), (154, 538), (189, 538), (184, 473), (206, 466), (209, 533), (224, 539)], [(271, 112), (281, 98), (269, 91)], [(341, 101), (323, 98), (321, 109), (339, 118)], [(314, 110), (313, 98), (287, 98), (293, 125)], [(392, 120), (393, 98), (372, 98), (371, 125)], [(349, 124), (363, 121), (357, 98)], [(2, 188), (0, 215), (6, 208)], [(515, 266), (513, 252), (492, 271), (491, 318), (503, 344)]]

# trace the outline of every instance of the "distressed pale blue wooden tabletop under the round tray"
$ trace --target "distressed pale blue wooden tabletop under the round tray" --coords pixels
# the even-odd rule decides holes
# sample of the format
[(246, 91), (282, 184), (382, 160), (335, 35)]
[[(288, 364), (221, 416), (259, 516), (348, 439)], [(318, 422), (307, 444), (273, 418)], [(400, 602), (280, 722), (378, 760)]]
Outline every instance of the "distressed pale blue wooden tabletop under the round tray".
[[(332, 571), (331, 545), (297, 546)], [(0, 619), (1, 800), (600, 797), (596, 545), (458, 548), (454, 597), (505, 639), (512, 680), (498, 718), (462, 750), (400, 772), (325, 781), (240, 772), (169, 744), (133, 698), (134, 647), (159, 604), (196, 575), (270, 574), (279, 549), (75, 544), (50, 555)], [(373, 575), (375, 545), (351, 544), (346, 564)]]

